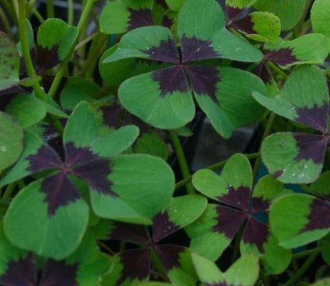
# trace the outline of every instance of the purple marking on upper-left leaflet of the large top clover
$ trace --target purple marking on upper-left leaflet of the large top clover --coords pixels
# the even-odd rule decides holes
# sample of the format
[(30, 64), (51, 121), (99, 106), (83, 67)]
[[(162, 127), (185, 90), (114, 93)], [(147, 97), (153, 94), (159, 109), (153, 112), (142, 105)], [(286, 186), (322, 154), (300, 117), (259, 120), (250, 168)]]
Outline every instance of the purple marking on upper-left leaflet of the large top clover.
[(177, 52), (177, 45), (175, 41), (170, 38), (159, 42), (158, 46), (150, 47), (148, 50), (141, 51), (148, 54), (154, 61), (162, 61), (167, 63), (180, 63), (179, 53)]

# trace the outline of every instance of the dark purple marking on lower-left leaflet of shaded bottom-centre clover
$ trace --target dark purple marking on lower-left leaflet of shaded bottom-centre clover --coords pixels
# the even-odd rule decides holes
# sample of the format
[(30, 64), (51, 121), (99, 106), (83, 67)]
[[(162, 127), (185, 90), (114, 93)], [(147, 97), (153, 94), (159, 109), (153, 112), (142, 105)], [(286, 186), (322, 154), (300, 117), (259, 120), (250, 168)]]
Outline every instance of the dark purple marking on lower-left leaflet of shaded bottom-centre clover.
[(120, 285), (126, 279), (142, 281), (149, 276), (151, 249), (127, 250), (120, 253), (120, 263), (122, 263), (122, 274), (115, 285)]

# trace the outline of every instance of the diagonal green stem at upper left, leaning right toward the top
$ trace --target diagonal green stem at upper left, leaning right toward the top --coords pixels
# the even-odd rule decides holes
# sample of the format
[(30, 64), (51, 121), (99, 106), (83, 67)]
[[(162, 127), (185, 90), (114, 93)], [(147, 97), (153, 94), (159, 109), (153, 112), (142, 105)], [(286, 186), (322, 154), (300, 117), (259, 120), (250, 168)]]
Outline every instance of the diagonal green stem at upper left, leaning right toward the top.
[(91, 8), (93, 7), (94, 4), (94, 0), (88, 0), (85, 8), (83, 10), (83, 13), (81, 14), (80, 20), (78, 22), (77, 28), (78, 28), (78, 36), (76, 41), (74, 41), (74, 43), (72, 44), (72, 47), (70, 48), (69, 54), (67, 54), (67, 56), (65, 57), (64, 61), (61, 63), (58, 72), (54, 78), (54, 81), (52, 83), (52, 86), (50, 87), (50, 91), (48, 93), (48, 95), (53, 98), (56, 94), (56, 91), (58, 89), (58, 86), (61, 83), (61, 80), (63, 78), (63, 75), (65, 73), (65, 69), (67, 69), (67, 65), (69, 64), (69, 61), (72, 57), (72, 54), (74, 53), (74, 48), (76, 47), (76, 43), (79, 39), (80, 33), (83, 30), (83, 28), (85, 27), (88, 17), (89, 17), (89, 12), (91, 11)]

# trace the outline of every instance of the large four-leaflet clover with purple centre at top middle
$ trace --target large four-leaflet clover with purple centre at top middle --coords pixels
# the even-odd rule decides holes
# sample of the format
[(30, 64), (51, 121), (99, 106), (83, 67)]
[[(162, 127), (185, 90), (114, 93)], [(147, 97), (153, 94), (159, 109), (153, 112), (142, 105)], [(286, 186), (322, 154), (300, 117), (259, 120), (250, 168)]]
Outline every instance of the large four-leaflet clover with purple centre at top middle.
[[(125, 80), (118, 91), (120, 102), (131, 113), (157, 128), (177, 129), (195, 115), (192, 89), (217, 132), (230, 137), (234, 128), (263, 114), (263, 109), (250, 96), (252, 89), (265, 89), (263, 83), (236, 69), (186, 63), (207, 58), (260, 61), (262, 55), (250, 43), (236, 38), (224, 28), (222, 10), (216, 2), (203, 2), (190, 0), (179, 12), (177, 34), (181, 42), (181, 60), (168, 29), (144, 27), (125, 34), (117, 50), (104, 58), (104, 63), (144, 58), (175, 64)], [(201, 21), (206, 15), (205, 21)], [(232, 89), (233, 80), (235, 89)], [(234, 104), (228, 104), (229, 97), (234, 98)], [(253, 105), (251, 110), (256, 112), (246, 113), (247, 104)]]

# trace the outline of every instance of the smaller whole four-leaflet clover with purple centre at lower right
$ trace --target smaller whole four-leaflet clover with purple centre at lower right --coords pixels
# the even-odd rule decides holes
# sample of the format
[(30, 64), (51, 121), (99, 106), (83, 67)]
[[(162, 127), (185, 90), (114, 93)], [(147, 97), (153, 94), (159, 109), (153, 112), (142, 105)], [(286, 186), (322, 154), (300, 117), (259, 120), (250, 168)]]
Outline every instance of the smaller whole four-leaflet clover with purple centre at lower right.
[(241, 154), (230, 157), (220, 176), (211, 170), (197, 171), (192, 184), (203, 195), (221, 203), (209, 204), (206, 212), (186, 228), (193, 250), (209, 259), (218, 259), (246, 221), (241, 253), (261, 255), (267, 272), (285, 270), (290, 261), (289, 252), (278, 246), (265, 221), (256, 217), (257, 213), (266, 212), (272, 199), (284, 191), (282, 184), (264, 177), (252, 195), (252, 169)]

